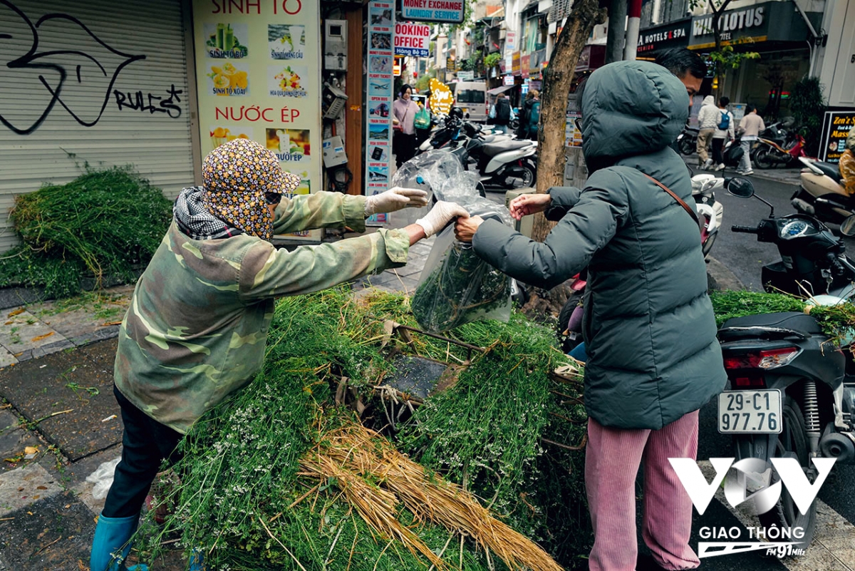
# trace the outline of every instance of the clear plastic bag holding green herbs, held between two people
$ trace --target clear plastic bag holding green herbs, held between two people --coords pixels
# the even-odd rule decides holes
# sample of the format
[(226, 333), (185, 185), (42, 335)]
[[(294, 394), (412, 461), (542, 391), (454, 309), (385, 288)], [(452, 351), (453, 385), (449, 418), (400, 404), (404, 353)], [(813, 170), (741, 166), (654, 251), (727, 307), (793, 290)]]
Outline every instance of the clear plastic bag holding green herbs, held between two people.
[[(494, 209), (498, 204), (489, 206)], [(498, 213), (488, 214), (480, 209), (469, 209), (469, 213), (502, 220)], [(433, 243), (410, 306), (419, 326), (432, 333), (471, 321), (508, 321), (511, 288), (510, 277), (481, 260), (472, 244), (457, 241), (454, 227), (447, 227)]]

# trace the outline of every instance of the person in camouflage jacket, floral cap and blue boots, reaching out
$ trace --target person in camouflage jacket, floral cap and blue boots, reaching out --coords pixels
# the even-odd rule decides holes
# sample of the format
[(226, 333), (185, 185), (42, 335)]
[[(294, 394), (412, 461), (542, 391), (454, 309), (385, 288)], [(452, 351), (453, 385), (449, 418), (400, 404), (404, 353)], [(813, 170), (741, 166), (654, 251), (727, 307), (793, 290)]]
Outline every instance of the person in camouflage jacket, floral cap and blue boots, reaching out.
[[(466, 215), (457, 204), (439, 202), (398, 230), (277, 250), (269, 242), (274, 233), (363, 232), (369, 215), (425, 206), (427, 192), (392, 188), (362, 197), (319, 191), (288, 199), (300, 177), (283, 172), (273, 152), (245, 138), (211, 151), (202, 180), (203, 186), (185, 188), (176, 199), (174, 220), (121, 322), (114, 393), (125, 430), (92, 539), (91, 571), (125, 568), (162, 461), (176, 460), (176, 446), (193, 424), (262, 368), (276, 297), (399, 268), (411, 245)], [(201, 568), (191, 564), (192, 571)]]

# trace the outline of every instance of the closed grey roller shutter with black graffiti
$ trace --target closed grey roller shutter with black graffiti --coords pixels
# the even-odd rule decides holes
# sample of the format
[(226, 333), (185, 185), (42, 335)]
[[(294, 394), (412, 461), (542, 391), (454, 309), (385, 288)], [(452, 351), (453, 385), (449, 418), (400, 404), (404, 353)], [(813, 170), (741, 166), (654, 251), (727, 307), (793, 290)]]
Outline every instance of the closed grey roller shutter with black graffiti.
[[(169, 198), (193, 184), (195, 103), (188, 97), (181, 12), (187, 3), (11, 4), (14, 8), (0, 4), (0, 116), (11, 125), (0, 124), (0, 252), (18, 242), (8, 221), (15, 195), (35, 191), (44, 182), (73, 180), (86, 164), (131, 164)], [(38, 24), (35, 34), (24, 16), (32, 26)], [(15, 67), (15, 60), (33, 49), (30, 67)], [(55, 91), (59, 86), (60, 95), (42, 121), (53, 96), (40, 77)], [(169, 113), (127, 105), (141, 97), (145, 106), (151, 101), (162, 109), (159, 103), (170, 92), (180, 101), (173, 97), (175, 108)]]

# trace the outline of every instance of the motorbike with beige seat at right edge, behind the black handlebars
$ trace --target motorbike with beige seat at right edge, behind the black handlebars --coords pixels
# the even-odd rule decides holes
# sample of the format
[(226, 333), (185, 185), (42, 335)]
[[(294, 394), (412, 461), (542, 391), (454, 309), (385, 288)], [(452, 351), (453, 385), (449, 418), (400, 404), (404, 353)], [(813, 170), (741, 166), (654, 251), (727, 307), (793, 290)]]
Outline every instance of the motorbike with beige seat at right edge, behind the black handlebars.
[(843, 178), (837, 165), (806, 157), (799, 157), (799, 162), (805, 168), (799, 175), (799, 190), (790, 200), (793, 208), (834, 224), (840, 224), (855, 214), (855, 198), (843, 188)]

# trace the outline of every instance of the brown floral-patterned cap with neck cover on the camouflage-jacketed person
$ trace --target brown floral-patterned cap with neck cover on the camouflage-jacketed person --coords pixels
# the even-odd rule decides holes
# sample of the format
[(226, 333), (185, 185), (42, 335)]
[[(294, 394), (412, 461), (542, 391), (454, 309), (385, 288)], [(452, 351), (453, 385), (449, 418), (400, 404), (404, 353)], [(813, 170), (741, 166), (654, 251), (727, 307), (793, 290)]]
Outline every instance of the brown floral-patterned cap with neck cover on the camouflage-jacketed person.
[(274, 217), (266, 195), (292, 192), (297, 174), (283, 172), (270, 150), (249, 138), (221, 144), (202, 163), (202, 201), (211, 214), (245, 233), (269, 240)]

